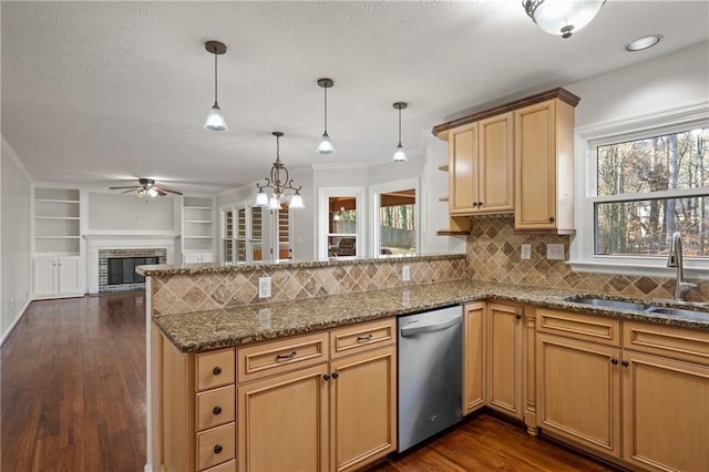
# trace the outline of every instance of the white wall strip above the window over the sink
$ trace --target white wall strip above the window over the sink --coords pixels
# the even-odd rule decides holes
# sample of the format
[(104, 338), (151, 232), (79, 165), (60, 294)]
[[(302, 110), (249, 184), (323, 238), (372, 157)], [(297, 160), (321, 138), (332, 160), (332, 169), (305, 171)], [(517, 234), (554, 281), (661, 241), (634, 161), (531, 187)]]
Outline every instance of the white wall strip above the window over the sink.
[[(641, 54), (641, 52), (639, 52)], [(576, 126), (709, 100), (709, 43), (565, 85), (580, 96)]]

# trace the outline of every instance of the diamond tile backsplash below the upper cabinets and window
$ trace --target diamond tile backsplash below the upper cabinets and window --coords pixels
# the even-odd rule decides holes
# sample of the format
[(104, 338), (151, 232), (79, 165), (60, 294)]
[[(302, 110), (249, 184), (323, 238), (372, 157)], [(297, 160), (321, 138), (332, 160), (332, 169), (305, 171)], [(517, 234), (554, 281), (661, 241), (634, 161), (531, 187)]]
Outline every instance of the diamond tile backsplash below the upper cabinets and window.
[[(530, 259), (522, 259), (522, 244), (532, 246)], [(564, 260), (546, 258), (547, 244), (564, 245)], [(568, 260), (569, 236), (514, 232), (512, 216), (475, 217), (467, 237), (469, 273), (474, 280), (525, 284), (553, 288), (627, 296), (672, 298), (675, 279), (633, 275), (575, 273)], [(709, 280), (687, 294), (689, 300), (709, 301)]]

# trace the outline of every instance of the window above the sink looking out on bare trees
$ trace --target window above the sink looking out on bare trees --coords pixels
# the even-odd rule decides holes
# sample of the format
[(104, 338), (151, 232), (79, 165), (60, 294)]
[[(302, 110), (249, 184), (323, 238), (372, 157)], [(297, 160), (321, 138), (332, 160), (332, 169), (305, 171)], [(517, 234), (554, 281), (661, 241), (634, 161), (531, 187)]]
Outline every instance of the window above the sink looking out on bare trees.
[(576, 130), (588, 160), (585, 182), (577, 181), (575, 269), (667, 274), (669, 242), (680, 232), (686, 267), (708, 275), (709, 112), (676, 113)]

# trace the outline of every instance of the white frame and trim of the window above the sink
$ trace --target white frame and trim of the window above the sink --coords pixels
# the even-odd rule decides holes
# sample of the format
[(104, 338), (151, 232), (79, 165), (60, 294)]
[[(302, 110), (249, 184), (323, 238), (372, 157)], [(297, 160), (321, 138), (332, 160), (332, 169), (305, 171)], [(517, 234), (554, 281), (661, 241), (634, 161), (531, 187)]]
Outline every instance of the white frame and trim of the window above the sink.
[[(575, 129), (574, 179), (576, 182), (574, 223), (576, 233), (572, 236), (568, 264), (575, 271), (599, 274), (626, 274), (639, 276), (675, 277), (676, 269), (667, 267), (667, 259), (658, 256), (617, 256), (595, 254), (595, 203), (637, 199), (647, 196), (692, 196), (706, 194), (705, 187), (695, 189), (662, 191), (634, 194), (633, 198), (618, 195), (596, 196), (597, 161), (596, 147), (621, 141), (639, 140), (664, 134), (709, 126), (709, 100)], [(709, 279), (709, 264), (706, 259), (686, 257), (685, 276)]]

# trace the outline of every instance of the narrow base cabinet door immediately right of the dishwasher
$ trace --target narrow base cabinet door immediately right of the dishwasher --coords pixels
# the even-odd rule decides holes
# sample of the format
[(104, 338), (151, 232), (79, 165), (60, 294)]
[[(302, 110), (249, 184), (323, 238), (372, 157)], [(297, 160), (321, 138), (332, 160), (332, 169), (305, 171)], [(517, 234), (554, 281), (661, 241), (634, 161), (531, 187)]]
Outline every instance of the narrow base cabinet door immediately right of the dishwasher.
[(469, 304), (463, 319), (463, 414), (485, 404), (485, 304)]

